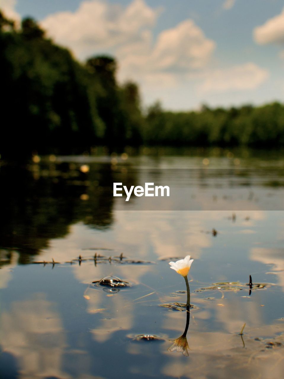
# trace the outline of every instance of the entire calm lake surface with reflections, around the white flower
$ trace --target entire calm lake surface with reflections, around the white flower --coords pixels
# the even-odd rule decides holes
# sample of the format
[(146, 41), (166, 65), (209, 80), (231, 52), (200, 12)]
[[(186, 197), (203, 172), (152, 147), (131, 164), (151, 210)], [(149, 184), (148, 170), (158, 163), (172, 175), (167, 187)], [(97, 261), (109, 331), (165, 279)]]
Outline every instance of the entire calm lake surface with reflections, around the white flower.
[[(2, 163), (0, 377), (282, 378), (283, 168), (230, 151)], [(126, 202), (113, 182), (171, 193)], [(186, 255), (189, 312), (169, 266)]]

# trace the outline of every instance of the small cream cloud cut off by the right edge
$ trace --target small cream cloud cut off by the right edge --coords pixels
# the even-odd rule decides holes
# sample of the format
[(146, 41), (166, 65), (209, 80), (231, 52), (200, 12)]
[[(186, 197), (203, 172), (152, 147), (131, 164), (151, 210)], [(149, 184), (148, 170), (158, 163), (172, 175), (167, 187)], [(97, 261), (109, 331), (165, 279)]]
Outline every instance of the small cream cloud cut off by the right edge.
[(284, 9), (278, 16), (254, 28), (254, 41), (260, 45), (284, 42)]

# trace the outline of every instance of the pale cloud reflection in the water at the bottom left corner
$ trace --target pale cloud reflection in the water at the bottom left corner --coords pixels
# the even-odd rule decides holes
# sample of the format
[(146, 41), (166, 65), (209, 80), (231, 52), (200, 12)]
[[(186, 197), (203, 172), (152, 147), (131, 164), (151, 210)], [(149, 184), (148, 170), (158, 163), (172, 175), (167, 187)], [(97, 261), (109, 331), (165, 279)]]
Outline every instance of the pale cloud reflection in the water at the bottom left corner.
[(66, 338), (55, 304), (42, 293), (14, 301), (1, 315), (1, 345), (19, 360), (21, 379), (66, 377), (62, 371)]

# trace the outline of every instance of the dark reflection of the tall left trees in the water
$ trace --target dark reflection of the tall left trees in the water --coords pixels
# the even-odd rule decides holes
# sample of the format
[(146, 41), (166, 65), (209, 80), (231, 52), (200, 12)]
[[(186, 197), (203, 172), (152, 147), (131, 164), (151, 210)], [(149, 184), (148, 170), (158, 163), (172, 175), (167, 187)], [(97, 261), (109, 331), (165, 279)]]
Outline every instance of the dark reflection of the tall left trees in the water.
[[(81, 221), (96, 229), (112, 224), (113, 182), (122, 180), (115, 179), (119, 168), (96, 163), (84, 173), (80, 166), (1, 167), (0, 266), (11, 263), (13, 250), (19, 253), (19, 263), (30, 262), (50, 239), (65, 236), (71, 224)], [(135, 184), (133, 177), (129, 180)]]

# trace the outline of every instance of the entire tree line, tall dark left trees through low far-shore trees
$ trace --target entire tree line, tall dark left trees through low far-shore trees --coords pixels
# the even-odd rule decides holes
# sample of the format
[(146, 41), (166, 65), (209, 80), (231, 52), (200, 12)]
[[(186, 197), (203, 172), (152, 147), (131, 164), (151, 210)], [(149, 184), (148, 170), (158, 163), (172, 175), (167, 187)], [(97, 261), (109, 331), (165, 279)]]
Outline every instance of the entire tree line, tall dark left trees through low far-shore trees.
[(284, 146), (284, 106), (143, 110), (134, 82), (119, 85), (117, 62), (79, 63), (46, 37), (35, 20), (20, 28), (0, 13), (2, 107), (0, 154), (70, 154), (107, 146)]

